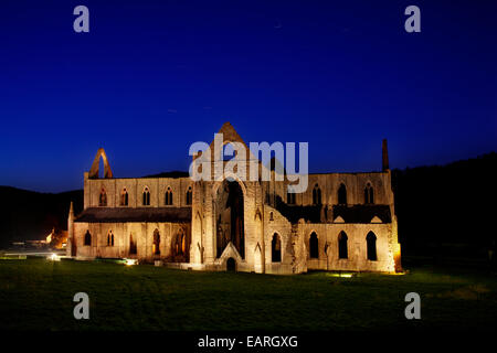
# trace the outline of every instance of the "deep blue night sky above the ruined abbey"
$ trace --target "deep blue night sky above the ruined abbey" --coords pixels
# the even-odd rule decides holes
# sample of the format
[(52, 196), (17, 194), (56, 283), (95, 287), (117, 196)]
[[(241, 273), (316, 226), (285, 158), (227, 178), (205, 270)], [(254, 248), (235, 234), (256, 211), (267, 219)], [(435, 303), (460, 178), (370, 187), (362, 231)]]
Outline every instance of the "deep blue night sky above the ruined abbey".
[(0, 184), (82, 188), (98, 147), (116, 176), (188, 170), (226, 120), (308, 141), (311, 172), (379, 170), (382, 138), (391, 168), (497, 150), (496, 19), (469, 0), (2, 0)]

